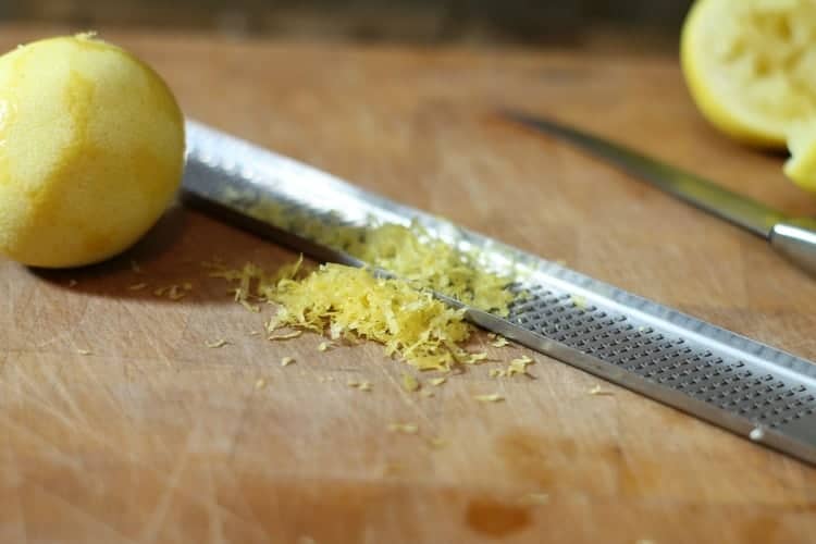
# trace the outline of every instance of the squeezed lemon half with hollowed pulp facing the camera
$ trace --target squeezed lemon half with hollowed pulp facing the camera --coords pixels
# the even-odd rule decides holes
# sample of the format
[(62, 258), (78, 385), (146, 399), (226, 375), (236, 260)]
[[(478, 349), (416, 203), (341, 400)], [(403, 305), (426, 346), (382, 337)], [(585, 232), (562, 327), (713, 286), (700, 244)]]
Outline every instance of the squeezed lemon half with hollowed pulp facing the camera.
[(814, 0), (696, 0), (680, 55), (703, 115), (727, 135), (781, 148), (816, 114)]

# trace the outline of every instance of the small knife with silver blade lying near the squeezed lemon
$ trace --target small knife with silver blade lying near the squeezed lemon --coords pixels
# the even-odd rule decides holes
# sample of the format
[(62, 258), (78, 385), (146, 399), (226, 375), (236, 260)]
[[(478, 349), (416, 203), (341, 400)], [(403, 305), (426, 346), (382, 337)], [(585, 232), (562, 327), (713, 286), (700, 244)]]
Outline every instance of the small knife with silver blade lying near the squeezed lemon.
[(552, 119), (512, 110), (504, 111), (503, 115), (535, 132), (574, 144), (669, 195), (762, 236), (774, 249), (816, 275), (816, 219), (791, 218), (709, 180)]

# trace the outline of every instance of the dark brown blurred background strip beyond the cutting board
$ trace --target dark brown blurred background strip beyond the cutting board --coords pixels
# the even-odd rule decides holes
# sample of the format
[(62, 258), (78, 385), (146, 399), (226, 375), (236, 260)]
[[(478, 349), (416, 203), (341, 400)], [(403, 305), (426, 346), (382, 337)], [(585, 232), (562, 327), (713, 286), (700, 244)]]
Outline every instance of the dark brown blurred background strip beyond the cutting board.
[(691, 0), (0, 0), (1, 23), (273, 39), (677, 49)]

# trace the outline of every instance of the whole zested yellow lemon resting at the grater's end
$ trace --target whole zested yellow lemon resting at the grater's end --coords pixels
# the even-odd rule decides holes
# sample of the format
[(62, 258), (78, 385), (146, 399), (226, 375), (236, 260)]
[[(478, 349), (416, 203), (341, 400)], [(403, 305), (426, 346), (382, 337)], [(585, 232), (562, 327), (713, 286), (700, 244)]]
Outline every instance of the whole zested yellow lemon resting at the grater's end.
[(162, 79), (90, 35), (0, 57), (0, 254), (36, 267), (104, 260), (172, 200), (184, 121)]

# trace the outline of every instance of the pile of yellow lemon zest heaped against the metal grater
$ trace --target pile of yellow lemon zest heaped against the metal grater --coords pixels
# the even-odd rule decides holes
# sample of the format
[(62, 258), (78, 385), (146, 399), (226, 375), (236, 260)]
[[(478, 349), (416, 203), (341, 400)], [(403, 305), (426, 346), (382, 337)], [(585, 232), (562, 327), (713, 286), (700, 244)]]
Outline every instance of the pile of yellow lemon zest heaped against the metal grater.
[[(262, 215), (282, 228), (396, 275), (383, 279), (369, 270), (327, 263), (298, 277), (302, 275), (302, 256), (273, 273), (251, 262), (237, 270), (219, 261), (203, 263), (212, 270), (211, 276), (236, 284), (231, 293), (247, 309), (258, 311), (257, 302), (262, 301), (280, 305), (265, 324), (270, 339), (294, 337), (272, 335), (281, 326), (327, 331), (335, 341), (370, 339), (383, 344), (386, 355), (418, 370), (449, 371), (457, 363), (473, 364), (487, 358), (486, 353), (461, 348), (472, 333), (463, 321), (463, 310), (450, 309), (424, 290), (431, 288), (469, 306), (506, 314), (514, 298), (506, 289), (510, 280), (486, 272), (477, 254), (433, 238), (416, 222), (411, 226), (351, 227), (316, 222), (280, 206), (262, 210)], [(318, 349), (325, 351), (330, 346), (321, 343)]]

